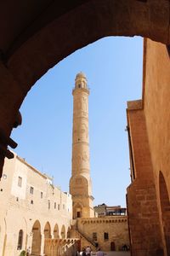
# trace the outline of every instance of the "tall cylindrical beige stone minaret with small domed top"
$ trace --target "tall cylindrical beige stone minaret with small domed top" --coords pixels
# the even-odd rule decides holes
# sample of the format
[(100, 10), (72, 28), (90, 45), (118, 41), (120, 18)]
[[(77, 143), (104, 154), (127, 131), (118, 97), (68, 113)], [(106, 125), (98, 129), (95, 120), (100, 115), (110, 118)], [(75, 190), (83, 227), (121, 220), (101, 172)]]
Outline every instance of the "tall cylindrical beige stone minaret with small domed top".
[(73, 218), (94, 217), (94, 197), (89, 167), (88, 84), (86, 76), (78, 73), (73, 95), (72, 175), (70, 193)]

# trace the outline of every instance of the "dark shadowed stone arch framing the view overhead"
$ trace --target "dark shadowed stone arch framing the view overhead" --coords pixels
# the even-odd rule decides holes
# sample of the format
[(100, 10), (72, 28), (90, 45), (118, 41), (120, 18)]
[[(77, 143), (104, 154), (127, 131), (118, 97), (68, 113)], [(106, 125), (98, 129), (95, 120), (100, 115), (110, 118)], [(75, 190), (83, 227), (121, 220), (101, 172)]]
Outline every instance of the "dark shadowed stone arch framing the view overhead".
[[(12, 29), (3, 28), (1, 40), (4, 42), (0, 47), (0, 128), (7, 138), (31, 86), (75, 50), (106, 36), (139, 35), (170, 44), (168, 1), (75, 0), (61, 7), (60, 4), (56, 1), (48, 6), (40, 4), (38, 13), (35, 2), (30, 12), (33, 16), (29, 17), (25, 9), (26, 20), (22, 20), (25, 13), (20, 3), (10, 20), (5, 15), (10, 4), (1, 9), (0, 24), (6, 26), (8, 22), (7, 25), (12, 26)], [(15, 12), (20, 19), (17, 24), (13, 22)], [(7, 146), (8, 139), (3, 147)], [(0, 152), (0, 177), (4, 152)]]

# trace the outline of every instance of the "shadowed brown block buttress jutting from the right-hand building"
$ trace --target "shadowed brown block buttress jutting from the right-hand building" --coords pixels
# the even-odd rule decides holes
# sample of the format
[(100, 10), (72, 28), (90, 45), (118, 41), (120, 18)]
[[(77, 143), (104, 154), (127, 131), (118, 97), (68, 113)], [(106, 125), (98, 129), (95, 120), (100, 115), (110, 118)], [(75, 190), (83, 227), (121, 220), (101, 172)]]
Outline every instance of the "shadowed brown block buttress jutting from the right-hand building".
[(127, 119), (134, 168), (133, 183), (127, 188), (132, 253), (134, 256), (154, 256), (162, 248), (161, 230), (143, 109), (127, 109)]

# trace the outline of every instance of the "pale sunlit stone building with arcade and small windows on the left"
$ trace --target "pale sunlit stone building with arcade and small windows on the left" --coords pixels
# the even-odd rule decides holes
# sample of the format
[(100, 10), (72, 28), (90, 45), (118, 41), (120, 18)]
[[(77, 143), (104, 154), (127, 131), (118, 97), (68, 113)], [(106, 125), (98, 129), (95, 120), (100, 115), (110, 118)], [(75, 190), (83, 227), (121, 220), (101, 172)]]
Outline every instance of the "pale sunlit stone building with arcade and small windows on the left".
[(0, 201), (1, 256), (18, 256), (28, 247), (32, 255), (51, 255), (51, 249), (61, 255), (66, 247), (72, 250), (75, 241), (67, 239), (72, 219), (71, 195), (55, 187), (50, 177), (16, 154), (13, 160), (5, 160)]

